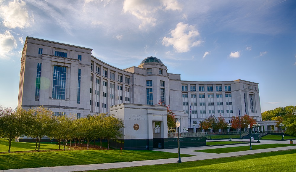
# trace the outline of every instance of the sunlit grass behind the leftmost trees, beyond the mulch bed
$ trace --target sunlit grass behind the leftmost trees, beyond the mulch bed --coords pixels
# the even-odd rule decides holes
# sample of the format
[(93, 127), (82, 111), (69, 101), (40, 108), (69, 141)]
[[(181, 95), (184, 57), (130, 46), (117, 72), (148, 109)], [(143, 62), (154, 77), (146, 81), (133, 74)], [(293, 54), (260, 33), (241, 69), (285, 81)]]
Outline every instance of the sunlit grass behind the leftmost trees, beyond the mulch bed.
[[(10, 151), (30, 151), (35, 150), (36, 143), (25, 142), (11, 142)], [(37, 147), (38, 149), (38, 147)], [(40, 143), (40, 150), (53, 150), (59, 149), (59, 146), (54, 143)], [(8, 141), (6, 139), (0, 139), (0, 152), (8, 152)]]

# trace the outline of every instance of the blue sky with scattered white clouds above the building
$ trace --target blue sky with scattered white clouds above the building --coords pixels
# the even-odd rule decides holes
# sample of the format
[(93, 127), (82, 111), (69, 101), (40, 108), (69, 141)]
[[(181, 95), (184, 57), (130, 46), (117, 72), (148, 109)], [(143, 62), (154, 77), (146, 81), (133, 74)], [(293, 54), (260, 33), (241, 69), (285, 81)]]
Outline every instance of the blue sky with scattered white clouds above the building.
[(294, 0), (0, 0), (0, 105), (17, 107), (27, 36), (120, 69), (153, 56), (185, 81), (259, 83), (261, 112), (296, 105)]

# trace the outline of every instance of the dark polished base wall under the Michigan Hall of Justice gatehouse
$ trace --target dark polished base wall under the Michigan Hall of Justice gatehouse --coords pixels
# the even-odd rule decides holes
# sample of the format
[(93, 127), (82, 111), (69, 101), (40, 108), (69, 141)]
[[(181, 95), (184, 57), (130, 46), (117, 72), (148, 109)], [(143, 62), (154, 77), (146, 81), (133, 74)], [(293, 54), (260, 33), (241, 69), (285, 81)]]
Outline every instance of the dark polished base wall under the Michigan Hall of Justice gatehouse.
[[(178, 148), (178, 138), (154, 138), (154, 139), (113, 139), (110, 147), (125, 150), (153, 150), (161, 144), (161, 149)], [(180, 147), (205, 146), (205, 137), (183, 137), (180, 138)], [(147, 146), (147, 147), (146, 147)]]

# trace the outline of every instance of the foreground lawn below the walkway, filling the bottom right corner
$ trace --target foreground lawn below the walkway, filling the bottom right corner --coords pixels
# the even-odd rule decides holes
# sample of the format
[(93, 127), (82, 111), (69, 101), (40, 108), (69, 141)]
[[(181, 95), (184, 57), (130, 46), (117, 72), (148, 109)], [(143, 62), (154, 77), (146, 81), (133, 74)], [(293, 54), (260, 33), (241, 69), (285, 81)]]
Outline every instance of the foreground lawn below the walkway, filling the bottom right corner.
[[(115, 168), (94, 170), (100, 171), (202, 171), (202, 172), (295, 172), (296, 150), (276, 151), (258, 153), (255, 155), (244, 155), (236, 157), (225, 157), (210, 160), (199, 160), (191, 162), (171, 163), (162, 165), (146, 165), (139, 167)], [(177, 161), (177, 160), (176, 160)]]

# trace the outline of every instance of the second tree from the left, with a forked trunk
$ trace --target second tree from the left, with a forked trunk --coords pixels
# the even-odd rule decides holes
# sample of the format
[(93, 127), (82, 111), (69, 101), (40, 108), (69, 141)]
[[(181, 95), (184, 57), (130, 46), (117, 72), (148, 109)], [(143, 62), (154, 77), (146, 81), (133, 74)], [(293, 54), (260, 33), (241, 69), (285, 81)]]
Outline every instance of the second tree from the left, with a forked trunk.
[(36, 139), (35, 150), (40, 151), (40, 141), (41, 138), (47, 136), (52, 130), (52, 111), (44, 107), (37, 107), (36, 109), (30, 109), (28, 111), (30, 114), (30, 130), (28, 135)]

